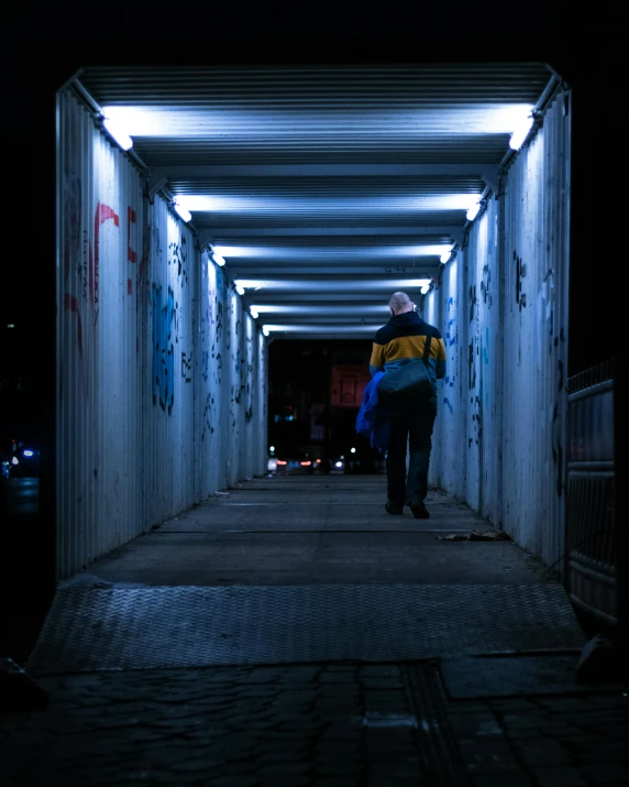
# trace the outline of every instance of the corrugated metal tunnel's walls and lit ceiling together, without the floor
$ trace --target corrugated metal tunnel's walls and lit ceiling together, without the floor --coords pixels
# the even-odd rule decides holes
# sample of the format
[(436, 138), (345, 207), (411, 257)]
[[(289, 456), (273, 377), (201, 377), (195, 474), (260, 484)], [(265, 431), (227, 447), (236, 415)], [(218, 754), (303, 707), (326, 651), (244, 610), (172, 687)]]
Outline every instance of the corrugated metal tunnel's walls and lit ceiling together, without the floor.
[(563, 553), (571, 88), (87, 67), (58, 92), (57, 579), (266, 472), (268, 342), (442, 332), (431, 482)]

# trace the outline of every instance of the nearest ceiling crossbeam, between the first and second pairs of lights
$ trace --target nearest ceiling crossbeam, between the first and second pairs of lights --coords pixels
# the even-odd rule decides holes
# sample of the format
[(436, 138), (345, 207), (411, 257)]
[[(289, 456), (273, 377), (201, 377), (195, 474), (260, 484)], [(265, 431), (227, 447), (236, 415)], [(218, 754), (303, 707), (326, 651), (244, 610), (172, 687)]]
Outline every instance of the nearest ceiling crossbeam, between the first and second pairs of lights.
[(151, 168), (150, 184), (212, 177), (495, 177), (494, 164), (170, 164)]

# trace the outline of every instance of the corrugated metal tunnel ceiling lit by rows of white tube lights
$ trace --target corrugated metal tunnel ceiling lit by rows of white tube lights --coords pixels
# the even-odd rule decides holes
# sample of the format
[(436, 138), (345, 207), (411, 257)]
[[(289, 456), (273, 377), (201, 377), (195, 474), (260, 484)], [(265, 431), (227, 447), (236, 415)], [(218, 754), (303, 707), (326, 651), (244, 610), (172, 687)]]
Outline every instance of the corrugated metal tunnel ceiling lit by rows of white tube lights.
[(395, 289), (420, 303), (559, 78), (493, 63), (96, 66), (78, 80), (261, 326), (356, 338)]

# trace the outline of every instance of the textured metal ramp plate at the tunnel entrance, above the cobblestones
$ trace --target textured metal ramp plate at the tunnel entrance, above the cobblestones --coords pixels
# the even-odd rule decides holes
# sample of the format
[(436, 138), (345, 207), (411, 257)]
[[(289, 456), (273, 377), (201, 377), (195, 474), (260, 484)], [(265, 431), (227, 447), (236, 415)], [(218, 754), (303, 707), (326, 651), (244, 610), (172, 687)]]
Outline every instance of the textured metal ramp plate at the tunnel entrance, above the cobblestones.
[(583, 644), (552, 584), (67, 588), (27, 669), (401, 662)]

